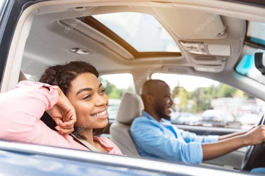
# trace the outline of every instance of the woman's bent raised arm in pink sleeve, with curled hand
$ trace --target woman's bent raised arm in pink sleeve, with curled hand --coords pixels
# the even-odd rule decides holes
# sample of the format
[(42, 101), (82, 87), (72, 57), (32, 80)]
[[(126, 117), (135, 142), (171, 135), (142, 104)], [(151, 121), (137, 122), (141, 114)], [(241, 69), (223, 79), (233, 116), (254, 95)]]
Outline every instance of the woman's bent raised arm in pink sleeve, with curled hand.
[[(50, 91), (42, 86), (48, 87)], [(69, 109), (69, 105), (61, 107), (64, 104), (62, 101), (68, 100), (65, 100), (66, 97), (64, 95), (59, 96), (60, 93), (62, 92), (57, 86), (21, 81), (16, 85), (16, 89), (0, 94), (0, 138), (34, 144), (62, 146), (65, 142), (65, 137), (59, 133), (68, 133), (70, 128), (68, 125), (73, 126), (76, 118), (74, 109), (70, 111), (72, 113), (68, 114), (68, 116), (63, 117), (63, 115), (58, 113), (61, 110), (65, 111), (64, 108), (66, 110), (67, 108)], [(58, 99), (60, 99), (60, 102)], [(60, 104), (59, 106), (58, 103)], [(59, 127), (59, 133), (51, 130), (40, 120), (44, 111), (49, 109), (52, 110), (52, 114), (50, 113), (52, 118), (59, 125), (57, 126), (57, 128)], [(71, 121), (67, 122), (69, 115)], [(65, 124), (60, 119), (66, 120)], [(61, 125), (65, 126), (65, 128), (68, 127), (68, 131), (65, 131), (67, 129), (62, 129)]]

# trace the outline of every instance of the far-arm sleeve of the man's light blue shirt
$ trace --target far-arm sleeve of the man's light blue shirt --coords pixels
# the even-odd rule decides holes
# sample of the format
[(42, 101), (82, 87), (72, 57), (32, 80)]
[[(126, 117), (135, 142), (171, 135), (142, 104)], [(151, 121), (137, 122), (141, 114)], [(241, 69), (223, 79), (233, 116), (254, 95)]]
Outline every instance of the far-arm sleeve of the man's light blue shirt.
[(217, 142), (219, 140), (219, 135), (209, 135), (209, 136), (201, 136), (196, 135), (195, 133), (184, 131), (182, 129), (178, 129), (182, 137), (184, 138), (185, 142), (200, 142), (200, 143), (206, 143), (206, 142)]

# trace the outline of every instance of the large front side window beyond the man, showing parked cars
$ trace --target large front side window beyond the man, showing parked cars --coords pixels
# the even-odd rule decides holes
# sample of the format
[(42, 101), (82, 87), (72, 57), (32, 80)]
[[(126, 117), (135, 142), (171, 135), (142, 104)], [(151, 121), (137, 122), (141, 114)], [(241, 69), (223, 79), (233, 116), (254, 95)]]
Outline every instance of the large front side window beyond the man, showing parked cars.
[(154, 73), (169, 84), (175, 124), (250, 129), (265, 111), (265, 102), (217, 81), (177, 74)]

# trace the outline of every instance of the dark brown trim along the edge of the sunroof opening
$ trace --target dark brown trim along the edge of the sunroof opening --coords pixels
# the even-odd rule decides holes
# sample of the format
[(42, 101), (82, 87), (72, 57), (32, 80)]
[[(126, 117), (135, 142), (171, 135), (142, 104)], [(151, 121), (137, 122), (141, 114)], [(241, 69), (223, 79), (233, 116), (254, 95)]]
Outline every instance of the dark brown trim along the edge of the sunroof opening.
[[(169, 57), (169, 56), (182, 56), (180, 52), (138, 52), (134, 47), (128, 44), (125, 40), (123, 40), (120, 36), (118, 36), (115, 32), (110, 30), (108, 27), (103, 25), (101, 22), (96, 20), (92, 16), (86, 16), (85, 18), (77, 17), (78, 20), (84, 22), (86, 25), (91, 26), (95, 30), (101, 32), (106, 35), (110, 39), (117, 42), (127, 51), (129, 51), (135, 59), (138, 58), (149, 58), (149, 57)], [(177, 44), (176, 44), (177, 45)]]

